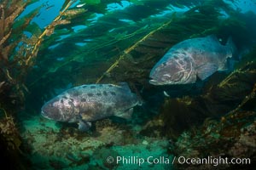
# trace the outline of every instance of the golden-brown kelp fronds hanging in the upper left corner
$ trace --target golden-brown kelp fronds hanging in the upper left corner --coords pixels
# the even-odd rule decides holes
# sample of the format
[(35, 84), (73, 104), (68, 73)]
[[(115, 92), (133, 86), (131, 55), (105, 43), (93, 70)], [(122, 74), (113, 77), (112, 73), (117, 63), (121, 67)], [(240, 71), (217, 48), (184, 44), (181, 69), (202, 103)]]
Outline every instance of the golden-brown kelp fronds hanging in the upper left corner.
[[(34, 60), (38, 55), (38, 50), (45, 36), (50, 36), (55, 26), (69, 24), (66, 14), (67, 9), (75, 2), (67, 0), (63, 5), (60, 14), (53, 20), (44, 31), (31, 20), (39, 13), (35, 8), (29, 14), (17, 18), (27, 5), (34, 1), (23, 0), (3, 0), (0, 5), (0, 75), (2, 82), (8, 82), (13, 87), (15, 96), (25, 99), (24, 92), (28, 92), (25, 85), (26, 76), (32, 68)], [(28, 32), (32, 36), (30, 37)]]

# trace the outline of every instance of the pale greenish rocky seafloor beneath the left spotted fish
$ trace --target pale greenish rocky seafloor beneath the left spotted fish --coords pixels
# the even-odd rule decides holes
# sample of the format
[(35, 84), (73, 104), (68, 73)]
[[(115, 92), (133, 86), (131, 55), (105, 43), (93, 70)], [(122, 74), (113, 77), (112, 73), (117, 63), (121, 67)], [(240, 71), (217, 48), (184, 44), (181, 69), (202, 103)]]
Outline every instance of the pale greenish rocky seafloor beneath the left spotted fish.
[[(60, 127), (58, 123), (34, 116), (23, 122), (21, 134), (26, 141), (32, 167), (38, 169), (170, 169), (172, 164), (150, 164), (153, 158), (165, 156), (168, 139), (143, 137), (138, 126), (115, 124), (111, 120), (96, 122), (96, 131), (79, 132), (75, 127)], [(109, 163), (109, 156), (113, 162)], [(117, 156), (126, 161), (116, 163)], [(139, 158), (152, 160), (139, 165)], [(131, 161), (132, 159), (132, 161)], [(150, 158), (151, 159), (151, 158)], [(130, 160), (130, 161), (129, 161)]]

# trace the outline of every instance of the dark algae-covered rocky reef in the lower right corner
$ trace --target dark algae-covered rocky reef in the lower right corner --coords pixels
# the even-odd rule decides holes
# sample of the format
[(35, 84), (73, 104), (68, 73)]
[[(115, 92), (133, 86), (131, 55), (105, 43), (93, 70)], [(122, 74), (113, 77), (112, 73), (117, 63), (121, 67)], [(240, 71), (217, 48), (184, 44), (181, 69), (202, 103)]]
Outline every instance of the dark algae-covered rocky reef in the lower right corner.
[[(247, 163), (218, 164), (218, 169), (253, 169), (256, 161), (255, 111), (235, 111), (220, 121), (206, 120), (201, 127), (192, 128), (181, 134), (172, 145), (171, 153), (188, 158), (232, 158), (247, 159)], [(214, 148), (214, 150), (212, 150)], [(250, 161), (248, 161), (248, 159)], [(217, 162), (218, 163), (218, 162)], [(177, 169), (212, 169), (213, 164), (181, 165)]]

